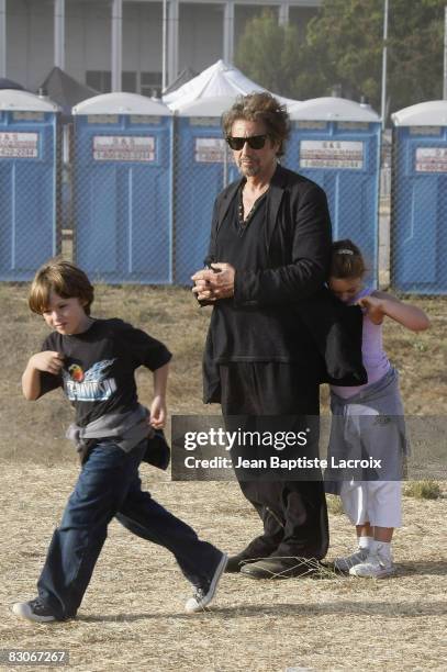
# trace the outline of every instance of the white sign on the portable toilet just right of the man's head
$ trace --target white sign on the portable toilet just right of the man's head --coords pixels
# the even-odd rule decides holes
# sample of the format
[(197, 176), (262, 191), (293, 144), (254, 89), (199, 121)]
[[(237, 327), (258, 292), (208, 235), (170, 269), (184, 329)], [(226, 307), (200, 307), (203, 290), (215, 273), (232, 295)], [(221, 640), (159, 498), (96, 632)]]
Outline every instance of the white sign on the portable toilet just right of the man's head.
[(300, 168), (362, 170), (364, 143), (354, 141), (301, 141)]

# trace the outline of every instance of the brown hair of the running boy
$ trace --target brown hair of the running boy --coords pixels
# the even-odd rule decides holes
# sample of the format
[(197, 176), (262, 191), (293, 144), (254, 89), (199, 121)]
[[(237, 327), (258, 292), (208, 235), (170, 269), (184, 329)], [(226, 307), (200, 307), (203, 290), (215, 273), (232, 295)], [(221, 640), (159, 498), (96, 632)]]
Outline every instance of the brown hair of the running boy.
[(36, 272), (31, 284), (27, 304), (33, 313), (42, 315), (49, 305), (49, 294), (55, 292), (63, 299), (79, 299), (85, 302), (86, 315), (94, 298), (94, 289), (86, 273), (63, 259), (51, 259)]

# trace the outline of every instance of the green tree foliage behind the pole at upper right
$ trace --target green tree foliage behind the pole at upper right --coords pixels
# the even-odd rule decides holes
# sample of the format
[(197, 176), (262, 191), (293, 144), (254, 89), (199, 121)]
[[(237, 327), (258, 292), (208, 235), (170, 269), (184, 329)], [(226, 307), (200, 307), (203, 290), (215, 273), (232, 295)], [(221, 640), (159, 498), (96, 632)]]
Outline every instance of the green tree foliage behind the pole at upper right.
[[(389, 0), (389, 111), (442, 98), (446, 0)], [(260, 85), (297, 99), (366, 96), (380, 110), (384, 0), (323, 0), (304, 41), (262, 14), (246, 26), (237, 64)]]

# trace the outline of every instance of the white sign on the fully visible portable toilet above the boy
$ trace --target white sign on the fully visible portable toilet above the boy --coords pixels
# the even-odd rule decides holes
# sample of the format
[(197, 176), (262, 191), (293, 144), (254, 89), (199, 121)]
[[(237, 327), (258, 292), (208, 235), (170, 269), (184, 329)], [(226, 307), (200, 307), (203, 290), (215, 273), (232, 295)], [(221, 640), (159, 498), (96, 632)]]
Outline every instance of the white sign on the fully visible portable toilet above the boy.
[(155, 138), (152, 136), (96, 135), (96, 161), (155, 161)]

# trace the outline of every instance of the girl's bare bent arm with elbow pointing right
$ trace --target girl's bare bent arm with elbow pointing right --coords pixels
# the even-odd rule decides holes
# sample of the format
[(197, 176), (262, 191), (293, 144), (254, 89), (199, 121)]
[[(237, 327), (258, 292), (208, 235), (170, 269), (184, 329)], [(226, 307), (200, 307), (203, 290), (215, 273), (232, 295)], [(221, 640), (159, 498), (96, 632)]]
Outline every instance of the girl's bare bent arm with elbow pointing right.
[(375, 291), (370, 296), (359, 299), (358, 304), (366, 309), (368, 317), (375, 324), (381, 324), (387, 316), (412, 332), (423, 332), (429, 327), (429, 320), (424, 311), (385, 292)]

